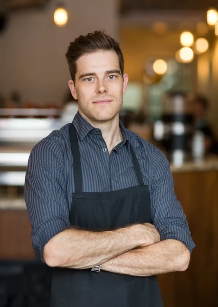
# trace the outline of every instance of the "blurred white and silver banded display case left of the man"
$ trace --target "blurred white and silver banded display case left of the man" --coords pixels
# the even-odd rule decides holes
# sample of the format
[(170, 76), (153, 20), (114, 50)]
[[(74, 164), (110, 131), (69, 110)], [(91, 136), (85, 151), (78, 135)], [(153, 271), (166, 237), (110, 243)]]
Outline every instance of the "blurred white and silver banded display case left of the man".
[(23, 208), (33, 146), (65, 124), (57, 109), (0, 109), (0, 209)]

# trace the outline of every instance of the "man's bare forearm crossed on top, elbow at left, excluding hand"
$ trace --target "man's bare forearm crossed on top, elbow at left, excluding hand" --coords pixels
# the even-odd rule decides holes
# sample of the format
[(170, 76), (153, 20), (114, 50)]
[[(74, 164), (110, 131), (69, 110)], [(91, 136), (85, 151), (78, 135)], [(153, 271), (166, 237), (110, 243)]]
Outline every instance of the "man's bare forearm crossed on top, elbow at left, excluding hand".
[(67, 229), (47, 243), (43, 258), (51, 267), (88, 269), (139, 245), (134, 226), (102, 232)]

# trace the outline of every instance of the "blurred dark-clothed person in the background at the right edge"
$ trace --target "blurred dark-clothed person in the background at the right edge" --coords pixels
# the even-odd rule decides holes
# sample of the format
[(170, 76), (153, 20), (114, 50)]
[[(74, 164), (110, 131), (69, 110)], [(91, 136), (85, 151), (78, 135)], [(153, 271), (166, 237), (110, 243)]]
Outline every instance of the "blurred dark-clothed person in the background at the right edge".
[(208, 108), (209, 103), (204, 96), (199, 95), (194, 97), (193, 114), (195, 129), (202, 131), (202, 133), (204, 134), (206, 153), (218, 154), (218, 142), (207, 120)]

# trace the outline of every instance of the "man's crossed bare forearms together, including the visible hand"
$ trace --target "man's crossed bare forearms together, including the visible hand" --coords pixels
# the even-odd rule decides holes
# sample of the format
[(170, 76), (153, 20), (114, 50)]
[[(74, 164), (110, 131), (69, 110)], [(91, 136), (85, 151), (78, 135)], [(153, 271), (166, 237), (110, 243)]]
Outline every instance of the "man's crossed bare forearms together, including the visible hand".
[(43, 259), (51, 267), (102, 270), (134, 276), (150, 276), (188, 268), (190, 252), (175, 239), (160, 241), (151, 224), (92, 232), (64, 230), (49, 240)]

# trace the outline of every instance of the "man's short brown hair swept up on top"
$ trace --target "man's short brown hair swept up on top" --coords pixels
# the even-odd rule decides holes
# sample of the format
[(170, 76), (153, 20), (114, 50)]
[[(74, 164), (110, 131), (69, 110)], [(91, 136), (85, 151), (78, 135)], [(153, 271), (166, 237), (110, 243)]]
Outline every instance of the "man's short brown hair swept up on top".
[(71, 74), (71, 78), (75, 83), (75, 75), (77, 71), (76, 61), (84, 54), (93, 53), (99, 50), (115, 51), (120, 64), (121, 74), (124, 71), (124, 59), (120, 50), (119, 43), (111, 36), (104, 33), (104, 31), (95, 31), (88, 33), (85, 36), (80, 35), (70, 42), (66, 58)]

